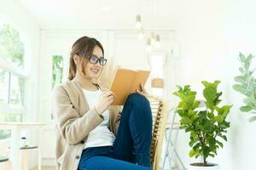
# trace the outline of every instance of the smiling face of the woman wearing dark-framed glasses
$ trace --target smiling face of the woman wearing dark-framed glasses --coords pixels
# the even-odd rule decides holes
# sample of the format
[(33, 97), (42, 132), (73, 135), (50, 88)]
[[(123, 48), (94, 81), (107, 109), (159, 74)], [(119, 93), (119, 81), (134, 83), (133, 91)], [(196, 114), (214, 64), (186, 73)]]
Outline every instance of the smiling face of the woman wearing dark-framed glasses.
[[(102, 49), (99, 48), (98, 46), (96, 46), (93, 49), (92, 54), (95, 55), (97, 58), (100, 58), (103, 56)], [(97, 78), (100, 76), (100, 74), (102, 72), (102, 68), (103, 68), (103, 66), (100, 65), (99, 61), (96, 64), (91, 64), (88, 59), (87, 63), (85, 64), (85, 67), (84, 67), (84, 72), (79, 71), (79, 73), (80, 73), (80, 75), (82, 74), (87, 79), (93, 79), (93, 78)], [(84, 75), (84, 73), (85, 73), (85, 75)]]

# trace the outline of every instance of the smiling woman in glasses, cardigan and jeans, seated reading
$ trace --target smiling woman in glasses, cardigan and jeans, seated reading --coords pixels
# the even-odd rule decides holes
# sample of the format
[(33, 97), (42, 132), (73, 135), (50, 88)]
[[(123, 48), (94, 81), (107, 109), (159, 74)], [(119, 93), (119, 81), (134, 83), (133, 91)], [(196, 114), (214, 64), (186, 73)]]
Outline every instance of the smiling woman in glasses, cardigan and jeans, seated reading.
[(106, 63), (95, 38), (74, 42), (69, 80), (52, 95), (57, 169), (151, 169), (152, 115), (143, 86), (127, 97), (119, 112), (119, 107), (110, 106), (115, 94), (97, 81)]

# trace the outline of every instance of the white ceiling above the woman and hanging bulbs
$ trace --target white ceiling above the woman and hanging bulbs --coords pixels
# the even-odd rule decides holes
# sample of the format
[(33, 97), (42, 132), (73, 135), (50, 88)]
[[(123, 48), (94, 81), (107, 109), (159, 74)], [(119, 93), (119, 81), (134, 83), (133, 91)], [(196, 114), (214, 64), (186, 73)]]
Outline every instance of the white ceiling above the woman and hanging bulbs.
[[(180, 13), (175, 0), (16, 0), (42, 29), (173, 29)], [(109, 7), (111, 11), (103, 11)]]

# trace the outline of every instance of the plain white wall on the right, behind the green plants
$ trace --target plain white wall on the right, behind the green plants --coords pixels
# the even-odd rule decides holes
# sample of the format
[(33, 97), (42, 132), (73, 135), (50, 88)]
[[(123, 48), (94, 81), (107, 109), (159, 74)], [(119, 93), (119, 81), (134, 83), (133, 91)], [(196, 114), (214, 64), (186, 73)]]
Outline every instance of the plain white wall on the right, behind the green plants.
[[(222, 170), (253, 170), (256, 154), (256, 124), (247, 122), (247, 115), (239, 111), (242, 96), (232, 88), (238, 75), (239, 52), (256, 54), (256, 3), (253, 0), (236, 1), (183, 1), (177, 26), (177, 39), (181, 44), (178, 61), (181, 84), (191, 84), (201, 92), (202, 80), (220, 80), (223, 105), (234, 105), (230, 111), (231, 127), (228, 142), (218, 156), (210, 159)], [(255, 67), (255, 65), (253, 65)], [(202, 98), (202, 94), (198, 94)], [(189, 136), (179, 136), (178, 149), (186, 163), (189, 159)]]

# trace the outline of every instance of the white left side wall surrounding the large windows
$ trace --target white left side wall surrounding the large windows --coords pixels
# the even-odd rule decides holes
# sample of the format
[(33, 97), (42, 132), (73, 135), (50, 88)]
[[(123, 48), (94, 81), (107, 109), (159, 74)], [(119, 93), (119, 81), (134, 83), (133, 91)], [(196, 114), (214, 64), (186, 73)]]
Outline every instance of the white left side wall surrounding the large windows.
[[(14, 0), (0, 0), (0, 17), (6, 19), (20, 31), (20, 38), (25, 42), (25, 62), (28, 65), (29, 76), (26, 86), (27, 112), (23, 116), (24, 122), (38, 121), (38, 54), (39, 54), (39, 26)], [(37, 143), (36, 135), (31, 135), (31, 142)], [(0, 141), (0, 150), (6, 149), (9, 140)], [(2, 152), (0, 154), (3, 154)]]

